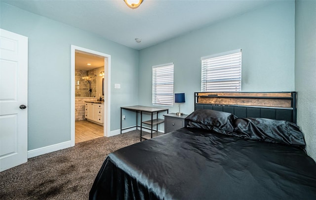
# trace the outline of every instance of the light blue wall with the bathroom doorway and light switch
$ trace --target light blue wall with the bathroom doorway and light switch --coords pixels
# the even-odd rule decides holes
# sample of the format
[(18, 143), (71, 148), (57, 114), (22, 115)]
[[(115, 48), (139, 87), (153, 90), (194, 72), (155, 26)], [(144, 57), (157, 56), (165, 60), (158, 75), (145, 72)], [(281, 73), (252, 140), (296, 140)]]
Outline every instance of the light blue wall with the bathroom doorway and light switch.
[(119, 129), (120, 106), (138, 104), (139, 51), (3, 2), (0, 11), (0, 28), (29, 38), (28, 150), (71, 138), (72, 44), (111, 55), (111, 130)]

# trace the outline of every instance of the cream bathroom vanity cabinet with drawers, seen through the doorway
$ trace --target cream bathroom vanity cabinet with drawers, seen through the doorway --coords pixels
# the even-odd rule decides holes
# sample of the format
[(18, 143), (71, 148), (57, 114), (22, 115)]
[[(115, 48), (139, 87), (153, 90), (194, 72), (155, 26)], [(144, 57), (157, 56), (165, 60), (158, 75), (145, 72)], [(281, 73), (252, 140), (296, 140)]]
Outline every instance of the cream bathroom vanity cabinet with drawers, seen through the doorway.
[(84, 116), (88, 121), (103, 125), (103, 107), (102, 101), (86, 101)]

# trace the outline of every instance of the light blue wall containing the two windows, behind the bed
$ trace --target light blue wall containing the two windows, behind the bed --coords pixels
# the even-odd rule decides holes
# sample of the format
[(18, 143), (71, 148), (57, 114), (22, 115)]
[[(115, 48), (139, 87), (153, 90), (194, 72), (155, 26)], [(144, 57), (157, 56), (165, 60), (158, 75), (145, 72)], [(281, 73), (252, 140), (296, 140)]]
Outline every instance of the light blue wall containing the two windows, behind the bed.
[(243, 91), (293, 91), (294, 13), (294, 1), (278, 1), (141, 50), (139, 103), (152, 105), (152, 66), (173, 62), (174, 92), (185, 92), (181, 111), (190, 114), (200, 91), (200, 58), (239, 48)]

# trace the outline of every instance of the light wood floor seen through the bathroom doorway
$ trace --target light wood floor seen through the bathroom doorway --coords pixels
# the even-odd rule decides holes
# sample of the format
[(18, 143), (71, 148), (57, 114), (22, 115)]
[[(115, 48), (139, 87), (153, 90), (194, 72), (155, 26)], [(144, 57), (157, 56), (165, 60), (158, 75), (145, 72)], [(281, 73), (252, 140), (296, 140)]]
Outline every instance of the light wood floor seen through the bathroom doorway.
[(103, 137), (103, 126), (90, 122), (88, 120), (80, 120), (75, 122), (75, 143)]

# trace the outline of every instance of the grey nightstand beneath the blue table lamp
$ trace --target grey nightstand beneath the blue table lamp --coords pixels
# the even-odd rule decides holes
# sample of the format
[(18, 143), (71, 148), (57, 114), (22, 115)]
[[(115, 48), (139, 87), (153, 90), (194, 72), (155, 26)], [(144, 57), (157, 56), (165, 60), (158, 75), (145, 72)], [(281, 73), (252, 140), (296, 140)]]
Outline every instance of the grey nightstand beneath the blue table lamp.
[(175, 113), (170, 113), (164, 116), (164, 133), (169, 133), (185, 126), (185, 118), (188, 115), (178, 116)]

